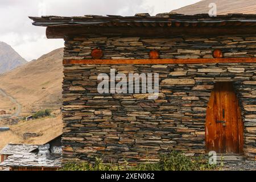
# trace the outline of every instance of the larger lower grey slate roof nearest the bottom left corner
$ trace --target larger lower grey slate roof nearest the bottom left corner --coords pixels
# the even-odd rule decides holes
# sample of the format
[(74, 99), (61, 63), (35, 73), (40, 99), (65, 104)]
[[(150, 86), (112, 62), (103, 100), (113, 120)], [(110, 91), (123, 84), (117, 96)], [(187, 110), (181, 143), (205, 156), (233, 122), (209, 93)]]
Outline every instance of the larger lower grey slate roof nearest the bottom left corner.
[(34, 152), (15, 152), (0, 164), (2, 167), (61, 167), (61, 155), (38, 155)]

